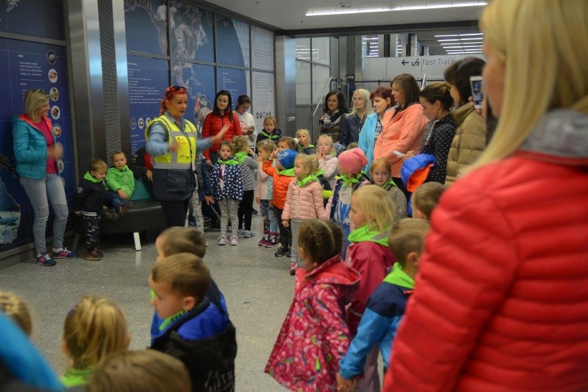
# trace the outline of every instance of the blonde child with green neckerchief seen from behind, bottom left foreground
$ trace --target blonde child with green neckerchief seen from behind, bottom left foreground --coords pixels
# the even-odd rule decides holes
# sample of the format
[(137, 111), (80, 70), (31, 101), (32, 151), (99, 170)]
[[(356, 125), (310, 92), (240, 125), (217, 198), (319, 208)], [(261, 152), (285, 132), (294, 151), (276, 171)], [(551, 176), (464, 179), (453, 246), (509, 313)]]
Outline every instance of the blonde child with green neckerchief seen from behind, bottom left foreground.
[(86, 295), (70, 310), (63, 325), (61, 349), (71, 367), (61, 376), (66, 388), (86, 384), (95, 366), (130, 343), (123, 311), (108, 298)]

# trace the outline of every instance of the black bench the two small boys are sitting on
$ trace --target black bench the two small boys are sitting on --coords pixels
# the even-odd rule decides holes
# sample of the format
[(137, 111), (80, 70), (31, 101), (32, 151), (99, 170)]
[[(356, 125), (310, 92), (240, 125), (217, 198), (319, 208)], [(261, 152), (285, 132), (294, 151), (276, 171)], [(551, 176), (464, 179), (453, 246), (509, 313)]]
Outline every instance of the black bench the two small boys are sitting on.
[[(159, 200), (150, 196), (143, 181), (143, 179), (135, 178), (135, 191), (133, 192), (133, 197), (130, 198), (133, 201), (133, 208), (121, 215), (119, 219), (106, 219), (103, 213), (100, 220), (101, 234), (133, 233), (135, 251), (141, 250), (139, 232), (167, 227), (166, 217), (163, 210), (161, 210)], [(72, 223), (75, 232), (72, 248), (76, 249), (80, 235), (84, 235), (86, 231), (81, 217), (72, 214)]]

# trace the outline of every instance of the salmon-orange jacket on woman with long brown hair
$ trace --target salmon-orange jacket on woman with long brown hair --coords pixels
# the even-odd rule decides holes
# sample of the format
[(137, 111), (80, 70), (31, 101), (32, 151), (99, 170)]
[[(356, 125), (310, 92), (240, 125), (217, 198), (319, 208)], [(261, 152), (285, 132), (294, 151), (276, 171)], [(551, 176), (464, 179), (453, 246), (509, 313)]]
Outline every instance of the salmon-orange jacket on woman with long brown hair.
[(402, 161), (395, 155), (391, 155), (392, 150), (398, 150), (401, 153), (414, 151), (418, 154), (427, 117), (424, 117), (420, 104), (413, 104), (392, 118), (394, 113), (395, 110), (390, 110), (384, 114), (382, 121), (384, 129), (373, 146), (373, 159), (382, 157), (390, 159), (392, 177), (398, 178)]

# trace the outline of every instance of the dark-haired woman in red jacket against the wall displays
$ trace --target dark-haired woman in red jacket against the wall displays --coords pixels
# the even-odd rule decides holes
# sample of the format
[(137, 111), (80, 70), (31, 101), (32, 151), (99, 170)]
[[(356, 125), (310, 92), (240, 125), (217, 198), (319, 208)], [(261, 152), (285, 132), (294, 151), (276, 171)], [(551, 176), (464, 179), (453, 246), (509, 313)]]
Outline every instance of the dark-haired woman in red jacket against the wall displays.
[[(239, 121), (237, 113), (233, 112), (231, 105), (231, 92), (228, 92), (227, 90), (220, 90), (217, 92), (213, 111), (208, 113), (206, 119), (204, 119), (202, 137), (215, 136), (225, 126), (227, 126), (226, 133), (224, 133), (222, 140), (231, 141), (233, 140), (233, 136), (242, 135), (241, 121)], [(212, 167), (213, 163), (216, 163), (219, 159), (217, 150), (219, 148), (218, 142), (220, 140), (221, 139), (217, 139), (209, 150), (204, 151), (206, 164), (210, 167)]]

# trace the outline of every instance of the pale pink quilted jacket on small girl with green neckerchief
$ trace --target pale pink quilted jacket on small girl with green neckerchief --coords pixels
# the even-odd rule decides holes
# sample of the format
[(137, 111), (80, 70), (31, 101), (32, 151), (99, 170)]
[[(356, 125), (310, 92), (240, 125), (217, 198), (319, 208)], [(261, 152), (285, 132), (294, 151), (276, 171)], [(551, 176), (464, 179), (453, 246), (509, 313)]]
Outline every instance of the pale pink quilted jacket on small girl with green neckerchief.
[(300, 188), (296, 179), (293, 179), (288, 185), (282, 220), (313, 219), (323, 215), (322, 186), (318, 182), (310, 181)]

